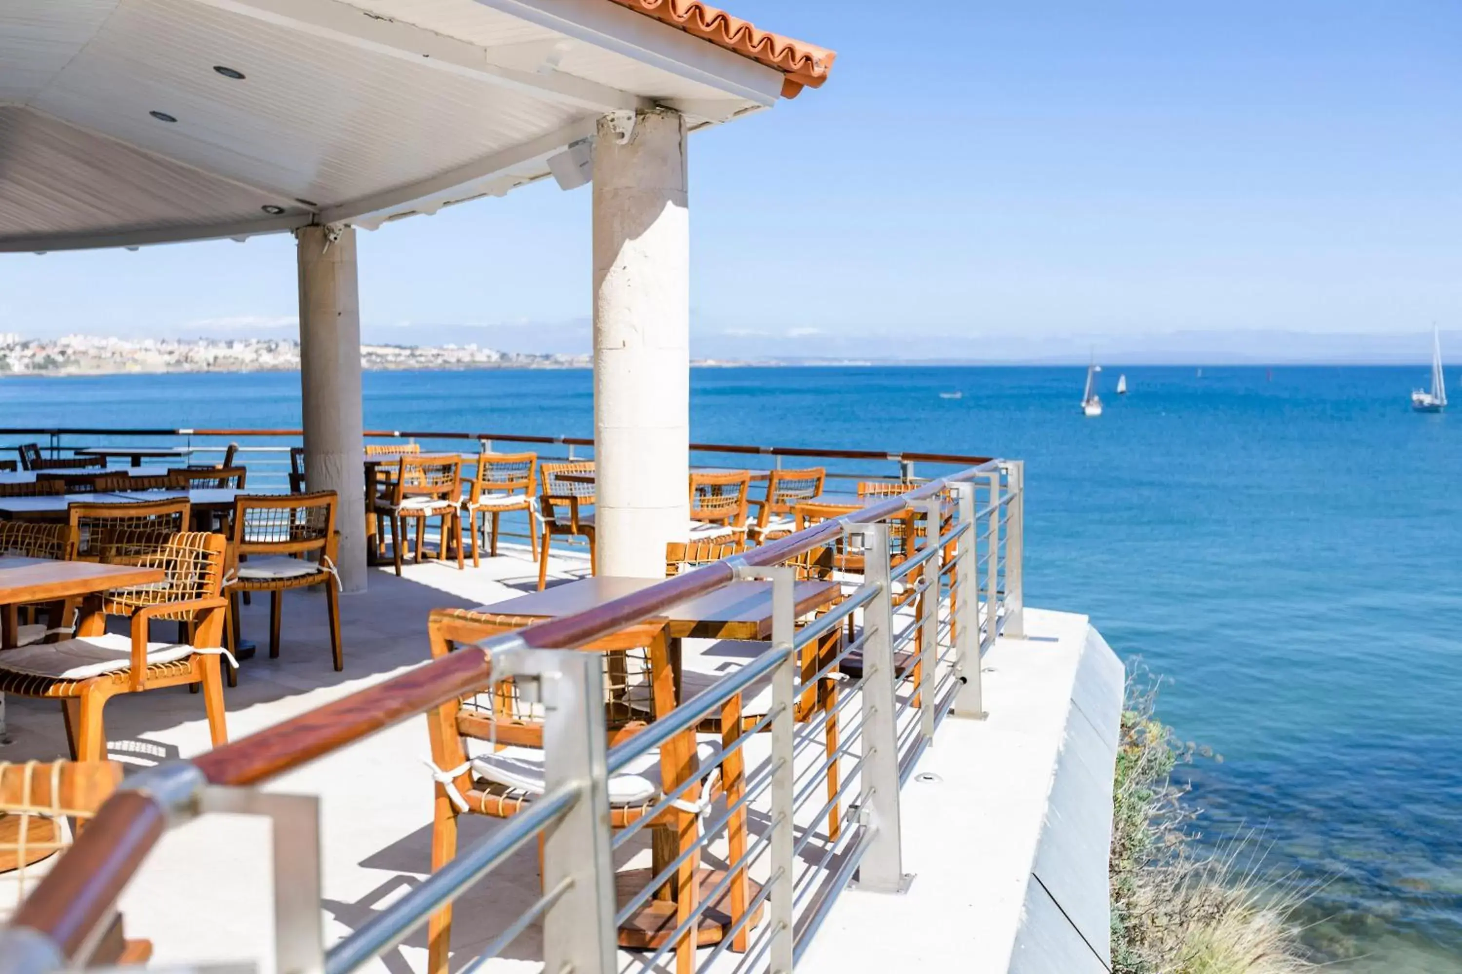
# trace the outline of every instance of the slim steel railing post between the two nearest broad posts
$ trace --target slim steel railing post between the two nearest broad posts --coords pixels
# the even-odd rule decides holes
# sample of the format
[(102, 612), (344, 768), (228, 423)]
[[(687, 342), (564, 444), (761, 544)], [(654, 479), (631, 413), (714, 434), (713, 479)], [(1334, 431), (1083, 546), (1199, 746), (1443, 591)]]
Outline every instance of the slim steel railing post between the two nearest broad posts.
[(792, 724), (797, 705), (794, 685), (797, 666), (792, 653), (792, 638), (797, 625), (797, 603), (792, 586), (797, 583), (794, 568), (768, 568), (760, 572), (772, 580), (772, 645), (785, 650), (787, 657), (772, 673), (772, 876), (768, 881), (768, 904), (772, 921), (772, 945), (768, 970), (772, 974), (792, 974), (792, 951), (795, 948), (792, 923), (792, 898), (795, 894), (797, 828), (792, 822), (792, 799), (795, 774), (792, 748), (795, 727)]

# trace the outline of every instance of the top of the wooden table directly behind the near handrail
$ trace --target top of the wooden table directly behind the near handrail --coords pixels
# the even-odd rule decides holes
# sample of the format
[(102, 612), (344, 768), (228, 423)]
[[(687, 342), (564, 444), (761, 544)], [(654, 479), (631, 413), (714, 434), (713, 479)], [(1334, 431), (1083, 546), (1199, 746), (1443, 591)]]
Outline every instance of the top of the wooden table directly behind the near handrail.
[[(611, 599), (649, 588), (664, 578), (595, 575), (542, 591), (532, 591), (475, 612), (558, 618), (583, 612)], [(842, 593), (836, 581), (798, 581), (792, 588), (797, 615), (830, 605)], [(721, 588), (687, 599), (659, 613), (677, 638), (766, 640), (772, 635), (772, 583), (732, 581)]]

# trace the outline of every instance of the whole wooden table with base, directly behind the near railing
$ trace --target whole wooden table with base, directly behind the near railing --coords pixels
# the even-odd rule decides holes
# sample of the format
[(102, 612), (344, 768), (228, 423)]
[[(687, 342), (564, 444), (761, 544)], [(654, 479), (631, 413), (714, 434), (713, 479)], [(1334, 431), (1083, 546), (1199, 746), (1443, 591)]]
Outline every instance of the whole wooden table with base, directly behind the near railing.
[[(627, 578), (617, 575), (596, 575), (580, 578), (532, 591), (525, 596), (497, 602), (494, 605), (478, 606), (474, 612), (490, 612), (494, 615), (512, 615), (519, 618), (558, 618), (573, 615), (602, 605), (611, 599), (633, 594), (642, 588), (649, 588), (664, 578)], [(794, 613), (803, 616), (830, 606), (842, 594), (842, 586), (836, 581), (798, 581), (792, 587)], [(671, 666), (675, 675), (675, 702), (683, 702), (681, 676), (681, 640), (769, 640), (772, 635), (772, 583), (770, 581), (732, 581), (703, 596), (686, 599), (655, 616), (667, 624), (670, 635)], [(697, 825), (699, 828), (699, 825)], [(618, 900), (627, 901), (637, 891), (643, 889), (651, 879), (661, 873), (678, 854), (678, 845), (673, 837), (656, 834), (651, 845), (651, 867), (632, 869), (616, 873), (616, 892)], [(696, 876), (700, 897), (708, 894), (724, 879), (725, 873), (702, 866)], [(756, 897), (757, 883), (750, 883), (749, 897)], [(708, 904), (702, 914), (696, 936), (702, 945), (718, 943), (731, 924), (727, 892), (712, 904)], [(754, 924), (754, 919), (750, 921)], [(675, 927), (674, 898), (652, 897), (639, 910), (630, 914), (620, 926), (620, 943), (632, 948), (655, 948)]]

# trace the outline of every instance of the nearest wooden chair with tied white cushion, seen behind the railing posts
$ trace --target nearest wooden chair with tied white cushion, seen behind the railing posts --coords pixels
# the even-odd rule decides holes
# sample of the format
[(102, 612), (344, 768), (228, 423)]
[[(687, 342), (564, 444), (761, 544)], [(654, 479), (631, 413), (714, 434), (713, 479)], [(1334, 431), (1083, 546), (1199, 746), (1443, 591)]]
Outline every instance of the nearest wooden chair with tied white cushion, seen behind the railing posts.
[[(482, 640), (520, 629), (542, 619), (436, 609), (427, 631), (431, 656), (439, 659), (458, 645), (472, 647)], [(675, 670), (670, 640), (662, 624), (642, 624), (605, 637), (583, 647), (604, 654), (604, 707), (608, 746), (614, 746), (662, 718), (675, 707)], [(740, 737), (738, 698), (724, 708), (728, 732), (722, 746), (730, 748)], [(431, 761), (436, 765), (436, 813), (431, 828), (431, 870), (442, 869), (456, 854), (458, 818), (465, 813), (510, 818), (528, 808), (544, 793), (544, 708), (520, 698), (512, 679), (499, 680), (480, 692), (452, 699), (427, 714), (431, 737)], [(471, 742), (478, 742), (475, 746)], [(496, 751), (493, 746), (496, 745)], [(706, 777), (702, 761), (711, 756), (711, 745), (697, 745), (694, 730), (673, 737), (635, 765), (610, 778), (610, 827), (627, 828), (643, 819), (667, 791), (689, 777)], [(715, 774), (715, 772), (712, 772)], [(744, 793), (744, 756), (737, 748), (727, 755), (719, 777), (692, 786), (671, 808), (659, 812), (646, 827), (654, 829), (654, 841), (664, 856), (674, 859), (690, 850), (697, 838), (699, 816), (694, 810), (702, 794), (708, 802), (725, 794), (735, 803)], [(727, 825), (731, 845), (730, 860), (746, 851), (746, 809), (743, 806)], [(539, 856), (542, 854), (539, 837)], [(624, 946), (658, 946), (696, 907), (699, 853), (692, 853), (667, 883), (671, 900), (661, 901), (662, 929), (658, 939), (636, 942), (621, 930)], [(744, 870), (732, 879), (728, 891), (732, 921), (747, 907), (747, 876)], [(750, 924), (749, 924), (750, 926)], [(452, 907), (431, 916), (427, 933), (428, 974), (446, 974), (452, 939)], [(687, 936), (677, 945), (680, 970), (687, 971), (694, 956), (696, 937)]]

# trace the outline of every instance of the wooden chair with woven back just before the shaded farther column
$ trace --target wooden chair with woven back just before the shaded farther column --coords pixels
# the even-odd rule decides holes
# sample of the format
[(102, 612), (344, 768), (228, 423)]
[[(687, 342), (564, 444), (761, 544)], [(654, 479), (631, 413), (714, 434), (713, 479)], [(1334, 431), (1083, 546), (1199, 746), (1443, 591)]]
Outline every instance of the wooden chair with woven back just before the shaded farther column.
[[(339, 581), (335, 575), (339, 534), (335, 530), (335, 491), (240, 496), (228, 534), (225, 594), (231, 624), (228, 648), (240, 643), (240, 606), (244, 593), (269, 593), (269, 657), (279, 656), (279, 619), (284, 593), (289, 588), (325, 586), (330, 624), (330, 653), (336, 672), (345, 669), (341, 648)], [(237, 682), (228, 670), (228, 685)]]

